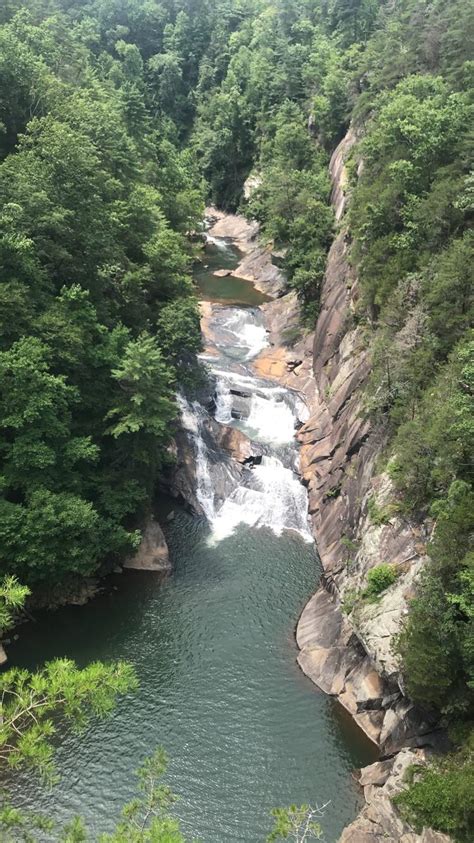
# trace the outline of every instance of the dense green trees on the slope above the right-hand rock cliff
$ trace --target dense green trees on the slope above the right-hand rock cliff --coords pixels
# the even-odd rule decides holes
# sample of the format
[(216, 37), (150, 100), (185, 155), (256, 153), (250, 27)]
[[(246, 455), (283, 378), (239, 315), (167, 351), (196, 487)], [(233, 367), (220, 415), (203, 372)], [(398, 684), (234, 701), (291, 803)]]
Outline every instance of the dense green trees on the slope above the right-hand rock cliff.
[(461, 3), (448, 13), (406, 0), (382, 13), (359, 59), (363, 168), (349, 214), (357, 316), (372, 332), (369, 408), (390, 441), (402, 510), (435, 521), (399, 640), (406, 686), (463, 716), (474, 682), (473, 26)]

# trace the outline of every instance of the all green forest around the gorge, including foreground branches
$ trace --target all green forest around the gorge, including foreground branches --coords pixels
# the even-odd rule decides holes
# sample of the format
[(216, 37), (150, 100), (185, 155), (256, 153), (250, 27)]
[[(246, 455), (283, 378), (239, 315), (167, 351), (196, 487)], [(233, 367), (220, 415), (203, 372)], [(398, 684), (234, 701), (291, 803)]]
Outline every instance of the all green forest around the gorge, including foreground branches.
[[(473, 43), (464, 0), (0, 8), (2, 626), (27, 593), (106, 573), (140, 542), (173, 459), (177, 386), (201, 377), (191, 235), (206, 202), (284, 249), (301, 331), (314, 327), (337, 231), (329, 158), (351, 126), (366, 412), (399, 511), (433, 530), (397, 646), (408, 695), (442, 713), (454, 747), (400, 809), (460, 841), (474, 823)], [(50, 670), (2, 674), (4, 696), (43, 693), (41, 679), (50, 697), (23, 735), (2, 723), (12, 766), (51, 769), (59, 686), (80, 720), (134, 685), (121, 664)], [(6, 811), (5, 834), (23, 839)], [(290, 834), (280, 824), (273, 839)], [(166, 817), (147, 833), (110, 839), (183, 839)]]

